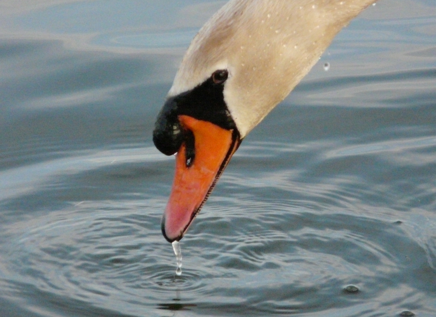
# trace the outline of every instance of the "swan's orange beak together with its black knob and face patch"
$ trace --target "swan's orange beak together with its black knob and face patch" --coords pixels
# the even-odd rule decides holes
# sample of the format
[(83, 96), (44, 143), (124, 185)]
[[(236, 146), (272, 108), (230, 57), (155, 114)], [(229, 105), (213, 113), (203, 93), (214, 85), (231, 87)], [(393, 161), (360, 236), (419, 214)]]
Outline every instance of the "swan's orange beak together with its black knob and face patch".
[(153, 141), (176, 154), (174, 183), (162, 218), (162, 233), (179, 241), (242, 141), (224, 98), (227, 69), (194, 88), (169, 95), (156, 120)]

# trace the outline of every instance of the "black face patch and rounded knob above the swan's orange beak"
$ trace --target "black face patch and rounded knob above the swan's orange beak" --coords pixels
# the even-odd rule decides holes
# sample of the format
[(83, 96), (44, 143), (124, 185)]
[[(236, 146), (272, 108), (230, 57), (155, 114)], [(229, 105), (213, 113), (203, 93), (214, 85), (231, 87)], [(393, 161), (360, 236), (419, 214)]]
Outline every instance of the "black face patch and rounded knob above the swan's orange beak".
[(227, 78), (227, 70), (218, 70), (194, 89), (167, 99), (157, 116), (153, 131), (157, 150), (166, 155), (179, 150), (185, 136), (179, 115), (209, 121), (228, 130), (236, 129), (224, 101), (224, 82)]

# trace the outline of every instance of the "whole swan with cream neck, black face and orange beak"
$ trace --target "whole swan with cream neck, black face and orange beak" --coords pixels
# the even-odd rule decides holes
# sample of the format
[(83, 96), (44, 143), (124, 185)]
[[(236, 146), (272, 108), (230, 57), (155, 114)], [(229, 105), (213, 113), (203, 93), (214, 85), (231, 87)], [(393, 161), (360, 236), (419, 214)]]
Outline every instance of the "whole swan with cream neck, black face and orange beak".
[(241, 141), (374, 0), (230, 0), (200, 29), (153, 131), (176, 154), (162, 233), (180, 241)]

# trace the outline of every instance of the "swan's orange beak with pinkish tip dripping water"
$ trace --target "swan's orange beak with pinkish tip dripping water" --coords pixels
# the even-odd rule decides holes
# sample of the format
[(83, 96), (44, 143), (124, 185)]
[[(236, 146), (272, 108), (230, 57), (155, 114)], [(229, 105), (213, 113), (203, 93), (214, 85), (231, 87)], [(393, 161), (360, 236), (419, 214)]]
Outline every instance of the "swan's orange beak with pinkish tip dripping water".
[(187, 115), (178, 119), (193, 136), (193, 144), (185, 141), (176, 154), (174, 181), (162, 217), (162, 233), (169, 242), (182, 239), (241, 143), (235, 130)]

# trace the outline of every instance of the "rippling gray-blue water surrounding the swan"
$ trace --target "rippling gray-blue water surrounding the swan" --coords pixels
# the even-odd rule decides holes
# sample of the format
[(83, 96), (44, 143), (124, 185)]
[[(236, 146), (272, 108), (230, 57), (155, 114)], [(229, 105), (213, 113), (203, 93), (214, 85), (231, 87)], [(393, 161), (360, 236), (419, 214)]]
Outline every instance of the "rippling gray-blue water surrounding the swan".
[(339, 34), (244, 140), (176, 276), (151, 134), (221, 4), (0, 2), (0, 316), (436, 316), (434, 0)]

